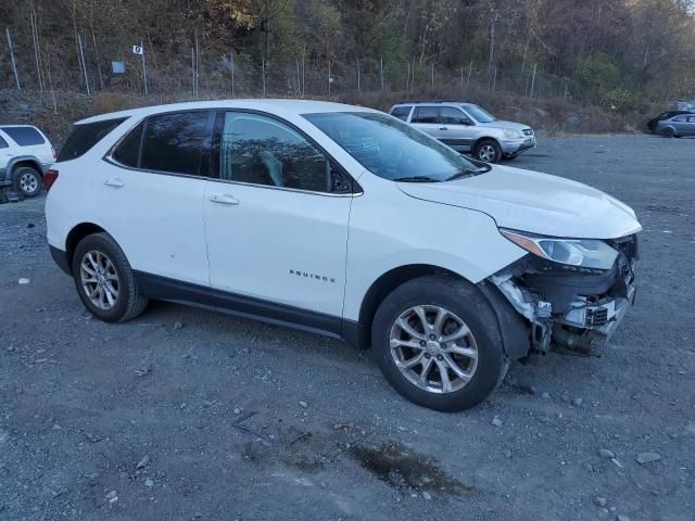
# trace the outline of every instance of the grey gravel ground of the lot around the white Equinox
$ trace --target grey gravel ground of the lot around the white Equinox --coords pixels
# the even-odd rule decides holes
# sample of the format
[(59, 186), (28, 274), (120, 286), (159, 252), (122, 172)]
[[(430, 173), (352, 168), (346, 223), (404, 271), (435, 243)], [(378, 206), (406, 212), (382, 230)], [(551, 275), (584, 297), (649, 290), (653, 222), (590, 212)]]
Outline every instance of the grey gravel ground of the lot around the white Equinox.
[(603, 358), (516, 364), (456, 415), (320, 336), (164, 303), (92, 320), (42, 198), (0, 205), (0, 519), (692, 521), (695, 140), (547, 139), (513, 165), (634, 207), (637, 300)]

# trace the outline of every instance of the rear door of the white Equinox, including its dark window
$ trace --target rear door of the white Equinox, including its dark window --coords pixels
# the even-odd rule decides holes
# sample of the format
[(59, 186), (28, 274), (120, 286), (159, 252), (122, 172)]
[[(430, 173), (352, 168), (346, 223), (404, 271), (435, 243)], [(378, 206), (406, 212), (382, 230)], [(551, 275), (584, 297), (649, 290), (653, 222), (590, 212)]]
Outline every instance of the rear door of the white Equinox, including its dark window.
[(94, 212), (135, 270), (208, 284), (203, 193), (214, 115), (150, 116), (94, 176)]

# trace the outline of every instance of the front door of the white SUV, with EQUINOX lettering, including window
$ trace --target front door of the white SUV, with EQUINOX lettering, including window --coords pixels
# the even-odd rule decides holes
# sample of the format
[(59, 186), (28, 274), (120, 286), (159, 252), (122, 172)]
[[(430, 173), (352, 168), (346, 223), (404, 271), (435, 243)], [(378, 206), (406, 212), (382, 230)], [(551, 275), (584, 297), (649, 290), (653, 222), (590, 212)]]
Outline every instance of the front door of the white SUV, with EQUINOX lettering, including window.
[(219, 179), (204, 198), (211, 285), (252, 315), (308, 327), (338, 319), (352, 195), (331, 193), (330, 162), (285, 122), (218, 117)]

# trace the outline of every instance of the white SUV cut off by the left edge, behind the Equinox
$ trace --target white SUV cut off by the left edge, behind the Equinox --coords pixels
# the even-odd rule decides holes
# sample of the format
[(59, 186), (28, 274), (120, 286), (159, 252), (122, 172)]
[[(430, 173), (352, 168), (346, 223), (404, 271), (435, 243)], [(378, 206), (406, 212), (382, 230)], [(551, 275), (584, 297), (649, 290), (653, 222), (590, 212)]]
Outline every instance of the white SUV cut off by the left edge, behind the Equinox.
[(55, 151), (38, 128), (0, 125), (0, 188), (12, 187), (25, 198), (34, 198), (54, 161)]

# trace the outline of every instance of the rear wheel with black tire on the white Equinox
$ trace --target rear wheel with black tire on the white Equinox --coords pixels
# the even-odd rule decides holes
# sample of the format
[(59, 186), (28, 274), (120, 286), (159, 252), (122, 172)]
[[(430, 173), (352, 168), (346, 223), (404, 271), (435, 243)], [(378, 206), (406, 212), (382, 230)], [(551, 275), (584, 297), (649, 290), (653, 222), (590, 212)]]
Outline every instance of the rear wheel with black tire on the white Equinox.
[(130, 264), (108, 233), (83, 239), (73, 256), (77, 294), (89, 313), (104, 322), (122, 322), (140, 315), (148, 305)]

